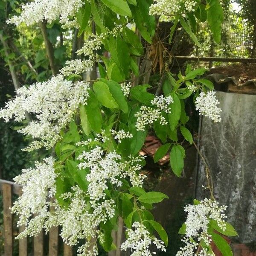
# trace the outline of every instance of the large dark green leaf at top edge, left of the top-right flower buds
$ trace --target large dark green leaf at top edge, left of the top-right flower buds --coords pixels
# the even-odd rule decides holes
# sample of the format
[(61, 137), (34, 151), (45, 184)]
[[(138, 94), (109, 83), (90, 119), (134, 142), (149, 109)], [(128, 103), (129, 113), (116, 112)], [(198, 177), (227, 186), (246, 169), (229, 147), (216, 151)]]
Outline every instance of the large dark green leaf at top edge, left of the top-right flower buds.
[(148, 43), (152, 43), (151, 37), (154, 36), (156, 23), (155, 17), (148, 13), (149, 6), (147, 0), (139, 0), (137, 6), (131, 6), (131, 12), (140, 34)]

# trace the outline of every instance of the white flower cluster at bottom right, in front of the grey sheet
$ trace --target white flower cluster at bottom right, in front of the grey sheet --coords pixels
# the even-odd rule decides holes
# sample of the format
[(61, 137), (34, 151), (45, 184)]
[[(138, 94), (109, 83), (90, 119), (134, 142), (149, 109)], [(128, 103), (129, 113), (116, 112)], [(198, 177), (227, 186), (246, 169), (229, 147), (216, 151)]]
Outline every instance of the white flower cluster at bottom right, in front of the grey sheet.
[[(225, 231), (226, 223), (223, 219), (227, 218), (224, 214), (226, 209), (227, 206), (219, 206), (218, 202), (207, 198), (201, 201), (200, 204), (186, 205), (184, 208), (185, 212), (188, 213), (185, 221), (186, 234), (185, 238), (182, 239), (185, 246), (180, 248), (176, 256), (194, 256), (195, 250), (198, 248), (201, 240), (203, 240), (206, 245), (210, 244), (212, 241), (211, 235), (207, 233), (210, 219), (217, 221), (221, 230)], [(197, 239), (197, 241), (195, 241), (195, 239)], [(200, 255), (208, 256), (211, 254), (209, 254), (207, 250), (201, 250)]]

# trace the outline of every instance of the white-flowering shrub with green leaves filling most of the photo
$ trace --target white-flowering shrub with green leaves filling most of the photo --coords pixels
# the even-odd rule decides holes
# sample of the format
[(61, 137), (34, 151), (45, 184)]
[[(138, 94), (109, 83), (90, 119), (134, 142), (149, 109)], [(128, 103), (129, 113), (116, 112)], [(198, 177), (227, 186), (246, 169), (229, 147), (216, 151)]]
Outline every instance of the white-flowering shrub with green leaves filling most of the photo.
[[(155, 2), (157, 14), (163, 12), (164, 16), (175, 16), (170, 42), (174, 29), (180, 24), (200, 47), (195, 27), (206, 20), (214, 40), (220, 41), (223, 11), (219, 0), (207, 0), (206, 3), (198, 0), (192, 5), (187, 0), (177, 1), (177, 9), (170, 9), (174, 13), (165, 13), (164, 4), (168, 7), (165, 1)], [(3, 3), (3, 9), (20, 12), (13, 3)], [(152, 15), (154, 5), (150, 0), (90, 0), (85, 3), (70, 0), (65, 2), (69, 7), (67, 12), (60, 3), (35, 0), (23, 6), (21, 15), (9, 19), (9, 23), (24, 22), (35, 26), (39, 21), (41, 24), (46, 48), (42, 47), (41, 37), (36, 42), (31, 35), (36, 57), (30, 70), (27, 66), (20, 67), (25, 70), (26, 79), (44, 80), (50, 74), (49, 66), (55, 75), (45, 82), (20, 88), (15, 99), (0, 111), (0, 117), (6, 121), (10, 118), (20, 121), (27, 113), (32, 116), (33, 121), (19, 130), (33, 140), (25, 150), (50, 149), (55, 145), (54, 157), (44, 158), (42, 163), (35, 162), (34, 168), (23, 170), (15, 178), (23, 185), (23, 195), (15, 202), (12, 212), (20, 215), (18, 225), (26, 225), (18, 238), (34, 236), (42, 228), (49, 231), (52, 226), (60, 225), (61, 237), (67, 244), (76, 245), (80, 239), (86, 239), (78, 249), (80, 256), (97, 255), (99, 245), (107, 252), (116, 249), (111, 232), (116, 230), (120, 217), (127, 227), (127, 240), (122, 244), (122, 250), (131, 248), (134, 256), (152, 255), (154, 253), (148, 247), (154, 244), (165, 251), (167, 233), (154, 221), (150, 210), (168, 197), (160, 192), (145, 191), (145, 160), (138, 154), (147, 134), (154, 132), (163, 143), (154, 160), (157, 162), (170, 151), (170, 166), (180, 177), (186, 157), (183, 141), (193, 143), (192, 134), (186, 127), (189, 117), (184, 101), (192, 97), (200, 114), (219, 122), (218, 100), (211, 92), (213, 84), (201, 79), (205, 69), (192, 70), (190, 66), (175, 79), (169, 70), (169, 61), (160, 70), (162, 78), (154, 93), (149, 84), (135, 84), (136, 78), (145, 76), (140, 74), (137, 64), (138, 58), (144, 55), (144, 45), (137, 34), (140, 32), (145, 45), (152, 44), (153, 38), (157, 38), (157, 20)], [(50, 4), (55, 8), (50, 8)], [(48, 30), (45, 30), (45, 20), (50, 22), (46, 27)], [(63, 67), (71, 53), (67, 49), (70, 39), (65, 45), (63, 38), (74, 27), (77, 33), (72, 48), (74, 46), (77, 51), (76, 54), (72, 51), (72, 60), (66, 61)], [(8, 41), (8, 30), (4, 32)], [(88, 39), (79, 47), (84, 34)], [(109, 58), (104, 51), (110, 53)], [(15, 55), (6, 52), (11, 69)], [(33, 55), (27, 51), (27, 58), (30, 54)], [(163, 61), (162, 55), (160, 59)], [(95, 69), (96, 63), (100, 78), (83, 80), (84, 73)], [(61, 67), (61, 74), (56, 76), (56, 70)], [(133, 87), (130, 89), (131, 83)], [(179, 131), (182, 140), (177, 137)], [(208, 185), (211, 199), (195, 201), (195, 208), (187, 206), (185, 209), (191, 209), (187, 210), (191, 214), (205, 207), (203, 214), (198, 212), (199, 222), (200, 218), (204, 220), (204, 229), (211, 229), (210, 234), (215, 229), (233, 235), (230, 225), (221, 221), (225, 207), (216, 206), (211, 184)], [(51, 197), (55, 199), (49, 201)], [(50, 206), (55, 211), (48, 210)], [(36, 216), (31, 218), (31, 215)], [(189, 227), (189, 221), (186, 225)], [(195, 229), (200, 233), (197, 227)], [(183, 226), (181, 232), (186, 235), (184, 241), (193, 242), (189, 228)], [(197, 246), (203, 249), (202, 255), (212, 254), (209, 237), (202, 239), (203, 235), (198, 235)], [(224, 244), (217, 236), (213, 240), (217, 246)], [(197, 247), (191, 248), (193, 254)], [(230, 255), (226, 244), (223, 248), (224, 255)]]

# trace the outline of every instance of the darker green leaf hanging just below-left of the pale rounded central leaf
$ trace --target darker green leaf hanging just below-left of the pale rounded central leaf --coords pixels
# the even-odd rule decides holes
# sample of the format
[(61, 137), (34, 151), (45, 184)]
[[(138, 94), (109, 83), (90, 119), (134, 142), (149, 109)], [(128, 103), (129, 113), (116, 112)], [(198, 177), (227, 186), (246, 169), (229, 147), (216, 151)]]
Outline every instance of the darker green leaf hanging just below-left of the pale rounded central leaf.
[(99, 102), (92, 90), (89, 90), (87, 105), (84, 106), (90, 127), (93, 131), (100, 133), (102, 128), (102, 114), (99, 109)]

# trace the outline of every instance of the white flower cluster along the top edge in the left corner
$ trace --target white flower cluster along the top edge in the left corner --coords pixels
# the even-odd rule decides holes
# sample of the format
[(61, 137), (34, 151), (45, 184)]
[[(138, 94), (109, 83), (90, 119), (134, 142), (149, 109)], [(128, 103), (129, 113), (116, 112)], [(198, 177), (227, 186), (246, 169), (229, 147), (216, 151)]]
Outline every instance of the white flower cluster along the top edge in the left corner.
[(74, 20), (84, 0), (33, 0), (21, 6), (22, 12), (8, 20), (9, 23), (32, 25), (39, 21), (47, 20), (48, 23), (60, 19), (65, 27), (77, 26)]

